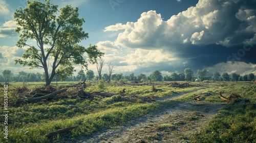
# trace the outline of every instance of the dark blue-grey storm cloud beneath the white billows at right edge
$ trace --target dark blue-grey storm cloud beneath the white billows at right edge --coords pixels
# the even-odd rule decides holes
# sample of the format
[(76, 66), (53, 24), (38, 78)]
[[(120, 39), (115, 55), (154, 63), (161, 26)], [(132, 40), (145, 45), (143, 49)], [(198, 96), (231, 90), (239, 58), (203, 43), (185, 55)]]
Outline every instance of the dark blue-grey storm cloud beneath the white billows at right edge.
[(255, 54), (255, 45), (244, 46), (240, 44), (225, 47), (223, 45), (210, 44), (206, 46), (187, 45), (176, 55), (186, 60), (186, 66), (200, 69), (228, 61), (256, 64)]

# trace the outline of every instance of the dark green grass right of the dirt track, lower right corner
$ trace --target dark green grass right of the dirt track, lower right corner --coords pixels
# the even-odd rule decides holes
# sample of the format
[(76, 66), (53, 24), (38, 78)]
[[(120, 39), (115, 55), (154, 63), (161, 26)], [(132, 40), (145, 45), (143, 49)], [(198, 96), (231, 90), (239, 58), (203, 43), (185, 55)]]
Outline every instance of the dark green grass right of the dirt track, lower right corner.
[[(233, 88), (230, 88), (233, 87)], [(243, 90), (241, 90), (241, 87)], [(256, 139), (256, 85), (229, 85), (224, 93), (240, 92), (245, 99), (230, 103), (212, 118), (209, 124), (192, 137), (191, 142), (255, 142)], [(246, 89), (246, 90), (244, 90)]]

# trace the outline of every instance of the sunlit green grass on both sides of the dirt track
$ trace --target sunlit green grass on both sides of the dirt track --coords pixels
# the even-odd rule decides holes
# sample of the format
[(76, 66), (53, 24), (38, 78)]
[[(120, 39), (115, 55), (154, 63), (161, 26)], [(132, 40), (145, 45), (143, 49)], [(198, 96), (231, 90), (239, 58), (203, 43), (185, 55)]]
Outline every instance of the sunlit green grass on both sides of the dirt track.
[[(166, 83), (166, 82), (165, 82)], [(0, 131), (0, 142), (57, 142), (61, 138), (69, 136), (75, 139), (78, 136), (91, 135), (102, 129), (114, 128), (117, 125), (122, 125), (127, 122), (131, 122), (136, 117), (145, 116), (152, 112), (159, 111), (168, 106), (172, 106), (178, 103), (191, 102), (195, 94), (203, 94), (205, 92), (211, 93), (211, 96), (207, 97), (204, 103), (223, 103), (224, 101), (219, 99), (219, 91), (223, 92), (223, 95), (227, 96), (230, 92), (238, 92), (244, 95), (244, 98), (252, 100), (252, 103), (246, 103), (245, 101), (237, 103), (231, 103), (221, 110), (214, 120), (210, 121), (209, 125), (205, 127), (200, 134), (195, 134), (193, 141), (204, 142), (212, 141), (214, 139), (223, 139), (230, 141), (230, 137), (235, 134), (238, 139), (245, 141), (251, 141), (253, 134), (255, 135), (255, 85), (248, 85), (245, 83), (220, 83), (225, 84), (219, 86), (219, 83), (205, 83), (207, 87), (187, 87), (187, 88), (174, 88), (166, 86), (164, 82), (155, 83), (156, 88), (161, 88), (162, 92), (151, 91), (151, 85), (136, 86), (132, 84), (117, 85), (105, 84), (105, 92), (117, 93), (123, 88), (126, 89), (126, 96), (116, 95), (111, 98), (94, 98), (88, 100), (80, 99), (58, 99), (53, 101), (40, 101), (36, 103), (12, 105), (8, 107), (8, 140), (4, 138), (4, 131)], [(58, 82), (58, 85), (67, 85), (71, 82)], [(96, 91), (96, 83), (90, 83), (92, 86), (87, 87), (85, 90), (88, 92)], [(198, 84), (191, 83), (191, 84)], [(204, 83), (200, 83), (204, 84)], [(227, 86), (226, 86), (227, 84)], [(22, 86), (20, 83), (11, 83), (10, 93), (14, 93), (14, 88)], [(27, 88), (33, 89), (39, 87), (39, 83), (27, 83)], [(202, 89), (195, 92), (198, 89)], [(175, 100), (161, 100), (157, 102), (142, 102), (137, 97), (156, 97), (165, 98), (172, 97), (177, 93), (187, 93), (185, 96), (177, 98)], [(129, 95), (128, 95), (129, 94)], [(10, 101), (17, 98), (17, 95), (10, 96)], [(193, 101), (192, 102), (196, 102)], [(1, 103), (3, 103), (1, 101)], [(3, 114), (3, 111), (1, 111)], [(197, 116), (191, 116), (187, 120), (197, 120)], [(236, 120), (234, 120), (236, 119)], [(4, 118), (0, 120), (4, 123)], [(221, 124), (218, 124), (221, 123)], [(246, 124), (249, 123), (249, 124)], [(176, 129), (176, 126), (183, 126), (186, 121), (180, 121), (175, 124), (159, 124), (156, 127), (158, 131), (172, 131)], [(245, 125), (246, 124), (246, 125)], [(77, 129), (70, 131), (67, 134), (59, 134), (53, 138), (45, 137), (45, 134), (56, 131), (58, 129), (78, 125)], [(1, 126), (4, 128), (4, 126)], [(248, 131), (247, 131), (248, 130)], [(228, 131), (228, 132), (226, 132)], [(214, 132), (214, 133), (212, 133)], [(202, 135), (203, 134), (203, 135)], [(153, 136), (145, 137), (146, 140), (152, 140), (153, 138), (159, 138), (161, 135), (156, 134)], [(187, 138), (183, 136), (181, 138)], [(223, 141), (221, 140), (221, 141)]]

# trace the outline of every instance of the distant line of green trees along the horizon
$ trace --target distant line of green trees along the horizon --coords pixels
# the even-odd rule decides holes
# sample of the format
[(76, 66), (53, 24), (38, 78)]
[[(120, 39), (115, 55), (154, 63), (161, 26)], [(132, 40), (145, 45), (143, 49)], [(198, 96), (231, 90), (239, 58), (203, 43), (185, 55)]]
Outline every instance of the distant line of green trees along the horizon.
[[(184, 73), (172, 73), (169, 76), (162, 76), (162, 73), (158, 70), (155, 70), (151, 73), (150, 76), (146, 76), (145, 74), (112, 74), (111, 79), (109, 78), (109, 74), (103, 74), (102, 80), (104, 81), (119, 81), (121, 79), (127, 81), (195, 81), (195, 79), (200, 79), (201, 81), (204, 80), (212, 80), (212, 81), (253, 81), (256, 80), (256, 76), (254, 74), (247, 74), (247, 75), (239, 75), (236, 73), (223, 73), (220, 74), (219, 72), (215, 71), (212, 75), (206, 76), (208, 71), (204, 69), (198, 69), (197, 75), (198, 77), (194, 76), (194, 72), (190, 68), (186, 68)], [(11, 70), (4, 70), (2, 75), (0, 75), (0, 82), (6, 82), (8, 79), (9, 82), (43, 82), (45, 81), (45, 74), (44, 73), (26, 73), (25, 71), (19, 71), (17, 75), (14, 75)], [(97, 81), (99, 80), (98, 75), (94, 75), (93, 70), (87, 70), (85, 73), (84, 70), (80, 70), (77, 76), (68, 76), (65, 79), (61, 79), (58, 76), (55, 76), (53, 81)]]

